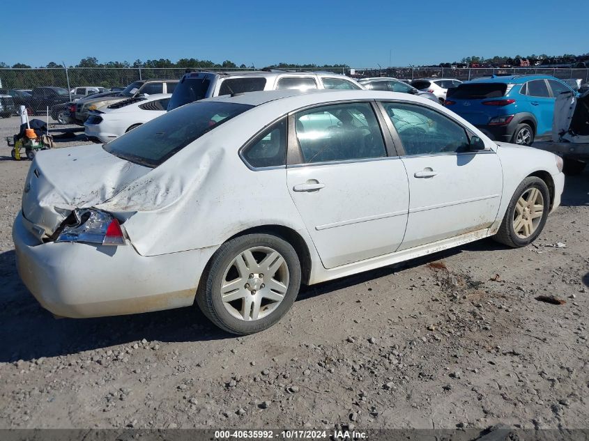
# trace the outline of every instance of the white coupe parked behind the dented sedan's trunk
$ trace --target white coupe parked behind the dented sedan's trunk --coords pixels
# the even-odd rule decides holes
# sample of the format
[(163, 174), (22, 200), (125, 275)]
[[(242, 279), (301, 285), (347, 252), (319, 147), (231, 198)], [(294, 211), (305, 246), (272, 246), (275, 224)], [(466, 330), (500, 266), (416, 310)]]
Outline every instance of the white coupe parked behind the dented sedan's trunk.
[(127, 98), (90, 111), (84, 121), (84, 134), (100, 142), (112, 141), (166, 113), (171, 93)]

